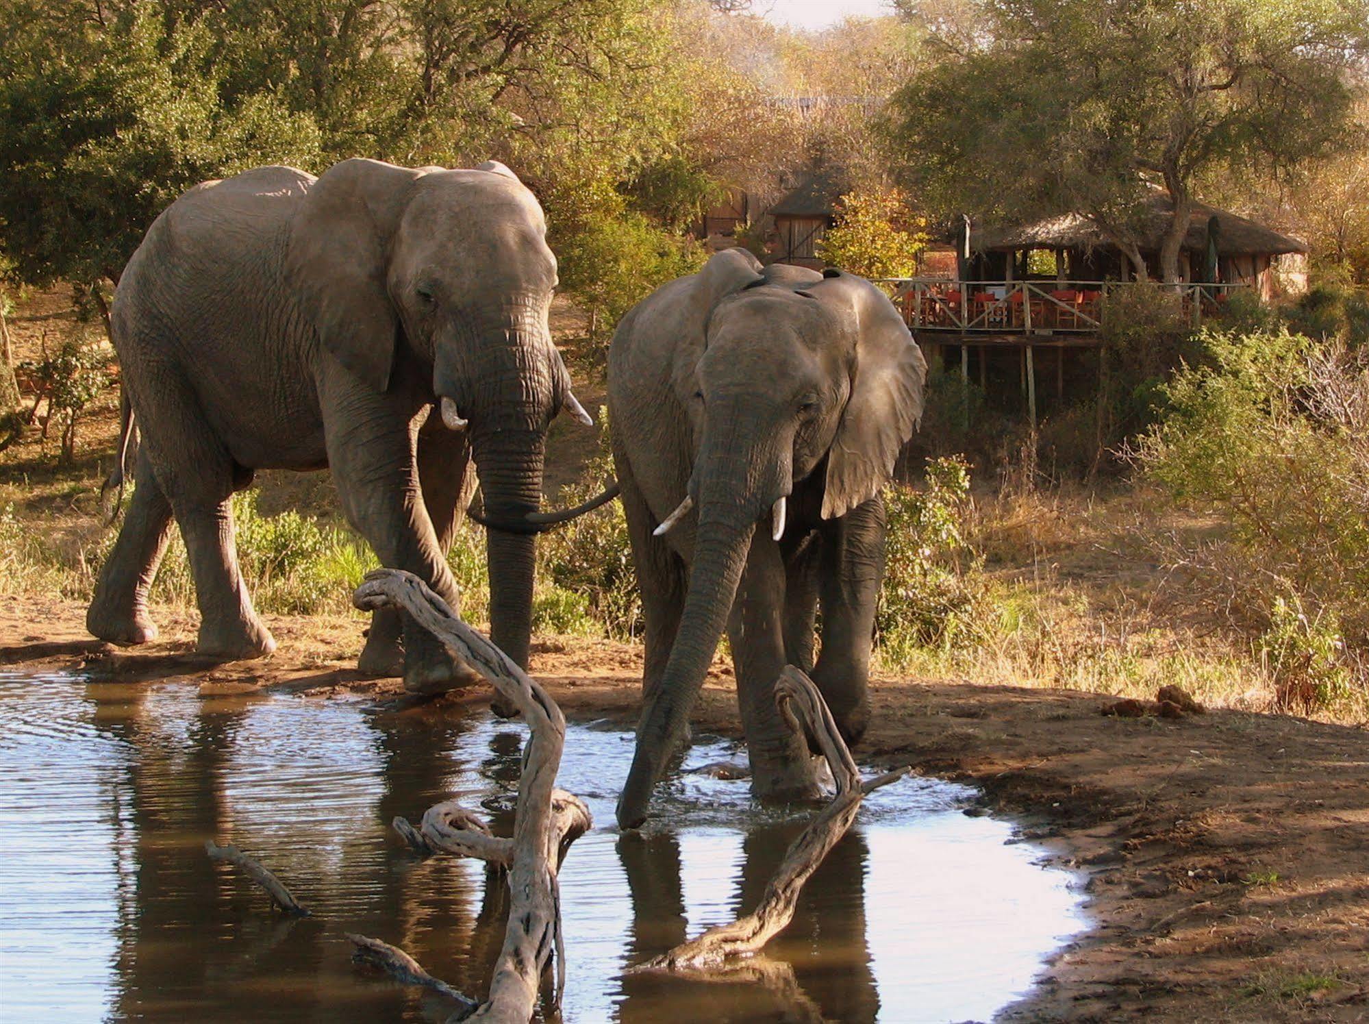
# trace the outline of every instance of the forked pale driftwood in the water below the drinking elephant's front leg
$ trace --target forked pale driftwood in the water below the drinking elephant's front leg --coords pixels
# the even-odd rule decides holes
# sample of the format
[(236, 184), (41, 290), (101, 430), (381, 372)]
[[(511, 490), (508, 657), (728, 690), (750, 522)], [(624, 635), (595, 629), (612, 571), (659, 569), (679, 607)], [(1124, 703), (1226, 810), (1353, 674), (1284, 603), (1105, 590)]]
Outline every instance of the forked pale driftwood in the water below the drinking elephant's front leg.
[(700, 971), (721, 967), (730, 957), (760, 950), (794, 919), (804, 883), (836, 841), (846, 835), (864, 795), (908, 773), (909, 769), (904, 768), (861, 783), (860, 771), (836, 731), (827, 702), (813, 680), (794, 665), (786, 665), (775, 682), (775, 702), (791, 730), (797, 732), (806, 727), (808, 734), (817, 741), (836, 782), (836, 795), (790, 843), (784, 860), (765, 884), (756, 910), (731, 924), (709, 928), (697, 939), (653, 957), (637, 971)]

